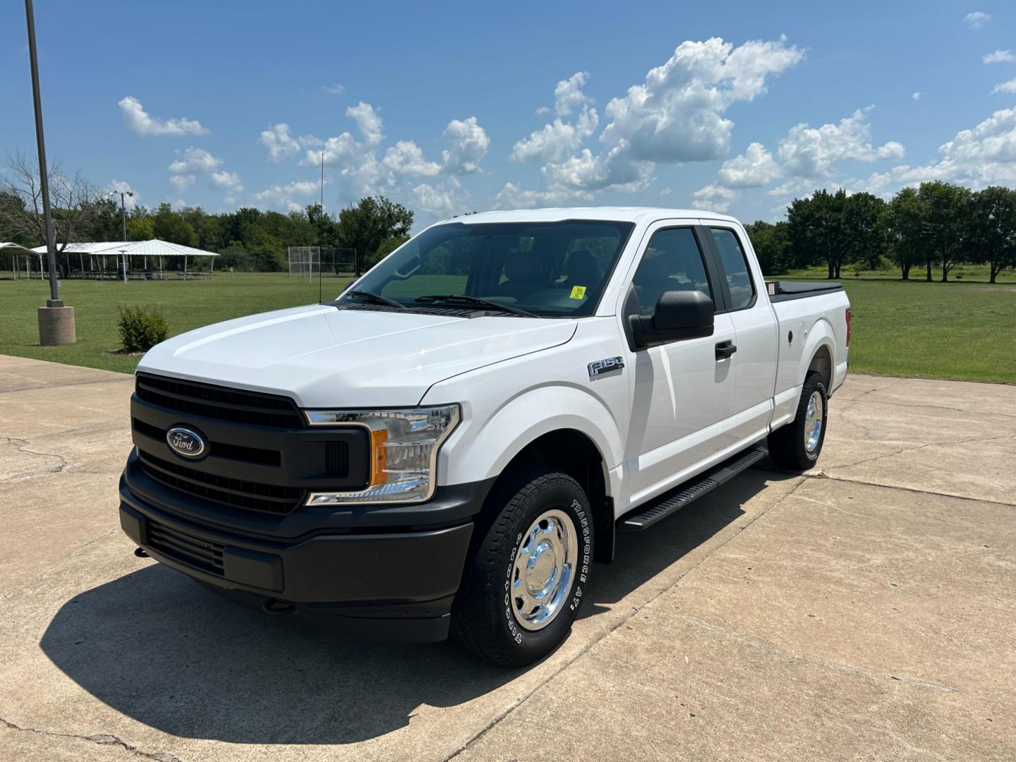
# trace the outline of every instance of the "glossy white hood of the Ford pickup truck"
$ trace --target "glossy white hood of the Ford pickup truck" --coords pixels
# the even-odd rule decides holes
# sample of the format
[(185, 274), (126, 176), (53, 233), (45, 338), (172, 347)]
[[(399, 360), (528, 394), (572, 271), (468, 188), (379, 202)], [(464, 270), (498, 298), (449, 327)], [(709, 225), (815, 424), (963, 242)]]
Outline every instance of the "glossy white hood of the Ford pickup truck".
[(309, 305), (174, 336), (152, 347), (138, 370), (285, 394), (302, 407), (394, 407), (418, 404), (438, 381), (565, 343), (574, 333), (571, 320)]

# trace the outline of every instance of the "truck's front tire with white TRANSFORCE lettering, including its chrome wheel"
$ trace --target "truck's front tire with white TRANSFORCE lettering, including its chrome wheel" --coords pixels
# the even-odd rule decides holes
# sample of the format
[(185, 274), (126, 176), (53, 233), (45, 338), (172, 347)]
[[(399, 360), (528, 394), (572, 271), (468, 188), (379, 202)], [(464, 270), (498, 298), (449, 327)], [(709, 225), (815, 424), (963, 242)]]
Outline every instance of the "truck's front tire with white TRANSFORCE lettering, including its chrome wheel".
[(488, 510), (497, 513), (466, 564), (452, 635), (497, 664), (530, 664), (565, 640), (585, 597), (593, 542), (589, 499), (565, 473), (526, 468), (499, 485)]

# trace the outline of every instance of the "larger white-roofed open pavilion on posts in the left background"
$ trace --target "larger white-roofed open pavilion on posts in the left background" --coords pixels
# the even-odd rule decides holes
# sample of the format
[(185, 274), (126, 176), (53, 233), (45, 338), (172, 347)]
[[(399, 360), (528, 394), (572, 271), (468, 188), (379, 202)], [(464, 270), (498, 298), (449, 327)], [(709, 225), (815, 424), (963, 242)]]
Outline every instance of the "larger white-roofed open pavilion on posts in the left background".
[[(31, 249), (33, 252), (37, 254), (45, 254), (46, 247), (39, 246)], [(111, 274), (115, 277), (127, 279), (129, 271), (131, 269), (132, 263), (136, 263), (136, 258), (141, 258), (141, 273), (135, 273), (134, 276), (140, 277), (164, 277), (163, 265), (164, 260), (170, 257), (183, 258), (183, 277), (197, 277), (197, 276), (210, 276), (214, 269), (214, 257), (217, 257), (213, 251), (205, 251), (204, 249), (195, 249), (193, 246), (184, 246), (183, 244), (174, 244), (169, 241), (160, 241), (158, 239), (151, 239), (150, 241), (101, 241), (101, 242), (82, 242), (82, 243), (72, 243), (67, 244), (63, 249), (63, 253), (68, 256), (68, 258), (77, 257), (78, 260), (78, 274), (71, 274), (72, 277), (109, 277)], [(85, 257), (88, 258), (88, 267), (85, 269)], [(202, 271), (200, 269), (194, 270), (189, 269), (188, 265), (197, 260), (199, 257), (208, 257), (208, 269)], [(148, 261), (149, 258), (151, 262), (157, 261), (158, 269), (149, 270)], [(101, 268), (96, 269), (96, 261), (99, 260)], [(107, 271), (106, 264), (108, 261), (112, 260), (115, 263), (115, 272), (111, 273)], [(73, 261), (73, 259), (71, 259)], [(175, 260), (175, 261), (179, 261)], [(177, 268), (174, 267), (174, 270)], [(155, 274), (157, 272), (157, 275)]]

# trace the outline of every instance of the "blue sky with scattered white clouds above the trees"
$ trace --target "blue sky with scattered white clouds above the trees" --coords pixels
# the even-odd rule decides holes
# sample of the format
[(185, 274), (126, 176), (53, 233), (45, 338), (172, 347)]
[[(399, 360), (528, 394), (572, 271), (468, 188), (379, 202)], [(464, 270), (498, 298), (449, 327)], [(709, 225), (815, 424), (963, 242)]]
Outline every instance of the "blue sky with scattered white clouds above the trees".
[[(1016, 185), (1012, 3), (43, 0), (36, 22), (51, 158), (149, 206), (303, 206), (322, 151), (330, 210), (383, 193), (420, 223)], [(0, 61), (0, 148), (34, 156), (20, 3)]]

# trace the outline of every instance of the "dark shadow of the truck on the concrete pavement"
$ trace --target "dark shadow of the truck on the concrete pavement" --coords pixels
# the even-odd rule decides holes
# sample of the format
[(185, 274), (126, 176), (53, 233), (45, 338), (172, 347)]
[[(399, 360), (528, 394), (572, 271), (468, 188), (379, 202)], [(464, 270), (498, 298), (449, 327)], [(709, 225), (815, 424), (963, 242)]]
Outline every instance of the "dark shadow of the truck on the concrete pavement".
[[(619, 533), (614, 564), (596, 566), (584, 616), (607, 611), (744, 516), (741, 506), (780, 478), (749, 470), (648, 531)], [(233, 605), (157, 564), (64, 604), (41, 646), (117, 711), (174, 736), (243, 744), (377, 738), (408, 724), (422, 704), (462, 704), (524, 672), (450, 643), (343, 641)]]

